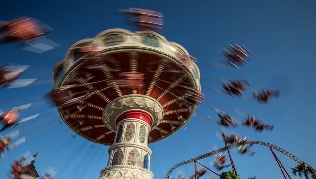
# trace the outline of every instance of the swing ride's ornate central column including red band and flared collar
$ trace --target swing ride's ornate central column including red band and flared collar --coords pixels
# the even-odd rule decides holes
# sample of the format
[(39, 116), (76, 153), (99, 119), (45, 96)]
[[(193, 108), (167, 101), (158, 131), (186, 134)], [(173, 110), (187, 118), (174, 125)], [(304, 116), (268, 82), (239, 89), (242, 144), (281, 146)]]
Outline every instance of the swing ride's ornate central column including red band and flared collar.
[[(160, 109), (160, 105), (156, 106), (157, 103), (148, 98), (139, 95), (123, 97), (123, 100), (118, 100), (119, 103), (113, 102), (122, 105), (121, 110), (115, 110), (116, 105), (109, 105), (105, 109), (105, 121), (110, 120), (111, 117), (116, 118), (111, 120), (115, 121), (116, 137), (114, 144), (108, 149), (109, 161), (107, 167), (101, 170), (99, 179), (152, 179), (154, 177), (150, 171), (152, 152), (148, 148), (148, 135), (151, 126), (159, 121), (157, 118), (161, 118), (155, 114), (162, 115), (162, 111), (157, 110)], [(129, 107), (125, 106), (127, 104)], [(120, 111), (121, 114), (117, 115), (111, 111)], [(111, 124), (110, 126), (114, 125)]]

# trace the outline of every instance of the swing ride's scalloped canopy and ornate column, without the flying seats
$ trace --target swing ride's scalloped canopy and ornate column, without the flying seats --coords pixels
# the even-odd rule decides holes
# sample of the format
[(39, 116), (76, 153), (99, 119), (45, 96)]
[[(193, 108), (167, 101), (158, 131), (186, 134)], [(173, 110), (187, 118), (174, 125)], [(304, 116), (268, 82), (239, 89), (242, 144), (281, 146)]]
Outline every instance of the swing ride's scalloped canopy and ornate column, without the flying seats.
[(99, 179), (153, 178), (148, 143), (185, 125), (203, 97), (199, 70), (187, 56), (153, 31), (110, 29), (75, 43), (56, 65), (52, 95), (64, 122), (111, 145)]

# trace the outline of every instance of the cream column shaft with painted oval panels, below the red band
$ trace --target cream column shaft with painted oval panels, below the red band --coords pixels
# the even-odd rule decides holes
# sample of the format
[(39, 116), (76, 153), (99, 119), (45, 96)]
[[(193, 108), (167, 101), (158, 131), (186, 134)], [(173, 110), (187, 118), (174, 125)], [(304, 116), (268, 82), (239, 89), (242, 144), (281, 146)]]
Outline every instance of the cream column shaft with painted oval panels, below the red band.
[(149, 132), (150, 125), (141, 119), (119, 121), (114, 144), (108, 149), (108, 165), (100, 172), (99, 179), (152, 179)]

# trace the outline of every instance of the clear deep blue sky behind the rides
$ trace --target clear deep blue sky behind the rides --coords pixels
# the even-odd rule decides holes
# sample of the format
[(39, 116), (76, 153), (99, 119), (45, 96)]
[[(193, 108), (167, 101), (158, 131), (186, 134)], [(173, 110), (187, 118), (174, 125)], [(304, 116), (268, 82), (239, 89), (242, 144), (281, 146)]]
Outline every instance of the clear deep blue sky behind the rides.
[[(273, 131), (254, 132), (248, 128), (234, 130), (249, 139), (276, 144), (302, 160), (316, 166), (315, 126), (316, 107), (316, 1), (315, 0), (67, 0), (67, 1), (0, 1), (0, 20), (20, 16), (37, 18), (54, 30), (48, 39), (60, 44), (56, 49), (37, 54), (16, 45), (0, 46), (1, 64), (31, 65), (22, 78), (38, 78), (34, 84), (17, 89), (1, 89), (0, 109), (10, 109), (33, 102), (21, 117), (42, 113), (34, 121), (19, 125), (20, 136), (26, 143), (0, 159), (0, 178), (6, 178), (10, 163), (22, 153), (38, 153), (35, 166), (40, 174), (53, 167), (59, 179), (92, 179), (99, 176), (107, 164), (107, 146), (89, 142), (75, 135), (66, 125), (60, 125), (56, 109), (43, 102), (43, 95), (52, 85), (51, 74), (55, 64), (64, 58), (67, 49), (77, 40), (93, 37), (110, 28), (131, 29), (118, 9), (138, 7), (164, 14), (163, 36), (184, 46), (198, 59), (206, 104), (233, 113), (237, 108), (254, 114), (275, 125)], [(251, 51), (247, 66), (219, 69), (214, 64), (224, 57), (220, 51), (227, 43), (246, 45)], [(252, 89), (245, 98), (232, 98), (203, 88), (220, 87), (214, 81), (226, 78), (247, 78)], [(281, 96), (268, 105), (251, 100), (251, 90), (265, 86), (280, 90)], [(10, 102), (12, 101), (12, 102)], [(201, 105), (199, 110), (216, 118), (216, 113)], [(239, 117), (241, 118), (241, 117)], [(184, 130), (184, 128), (187, 128)], [(155, 179), (164, 178), (173, 165), (180, 161), (221, 148), (224, 144), (215, 136), (221, 127), (201, 114), (173, 136), (150, 144), (153, 151), (151, 171)], [(8, 131), (12, 131), (10, 129)], [(91, 147), (91, 145), (93, 147)], [(281, 171), (266, 147), (254, 146), (254, 156), (241, 156), (232, 151), (242, 178), (280, 179)], [(297, 163), (277, 153), (286, 168)], [(213, 158), (202, 162), (211, 166)], [(175, 171), (192, 175), (193, 165)], [(205, 177), (207, 178), (207, 177)], [(293, 177), (297, 179), (298, 177)]]

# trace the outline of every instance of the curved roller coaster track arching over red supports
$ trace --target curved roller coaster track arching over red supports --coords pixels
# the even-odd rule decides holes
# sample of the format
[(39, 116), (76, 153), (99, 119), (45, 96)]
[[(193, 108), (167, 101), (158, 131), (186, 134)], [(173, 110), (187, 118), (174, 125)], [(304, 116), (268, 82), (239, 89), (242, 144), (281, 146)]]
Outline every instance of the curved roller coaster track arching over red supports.
[[(293, 159), (294, 161), (297, 161), (298, 163), (302, 163), (304, 162), (305, 163), (305, 166), (308, 167), (310, 165), (308, 165), (305, 161), (302, 161), (300, 160), (298, 157), (296, 157), (295, 155), (291, 154), (290, 152), (276, 146), (276, 145), (273, 145), (271, 143), (266, 143), (266, 142), (261, 142), (261, 141), (246, 141), (246, 144), (258, 144), (258, 145), (263, 145), (263, 146), (266, 146), (266, 147), (269, 147), (269, 148), (272, 148), (272, 149), (275, 149), (281, 153), (283, 153), (284, 155), (288, 156), (289, 158)], [(221, 153), (221, 152), (224, 152), (228, 149), (232, 149), (232, 148), (235, 148), (237, 147), (237, 144), (232, 144), (232, 145), (229, 145), (227, 147), (223, 147), (223, 148), (220, 148), (218, 150), (214, 150), (212, 152), (209, 152), (209, 153), (206, 153), (206, 154), (203, 154), (203, 155), (200, 155), (198, 157), (195, 157), (193, 159), (190, 159), (190, 160), (187, 160), (187, 161), (182, 161), (181, 163), (178, 163), (176, 164), (175, 166), (173, 166), (167, 173), (167, 175), (165, 176), (165, 179), (168, 179), (168, 177), (170, 176), (171, 172), (174, 171), (177, 167), (179, 166), (182, 166), (182, 165), (185, 165), (185, 164), (188, 164), (188, 163), (191, 163), (191, 162), (194, 162), (194, 161), (198, 161), (198, 160), (201, 160), (201, 159), (204, 159), (206, 157), (210, 157), (212, 155), (215, 155), (215, 154), (218, 154), (218, 153)], [(316, 171), (312, 166), (310, 166), (312, 168), (313, 171)]]

